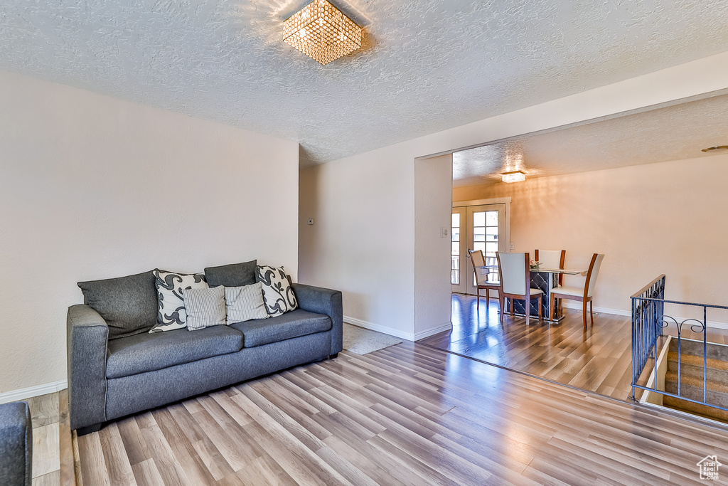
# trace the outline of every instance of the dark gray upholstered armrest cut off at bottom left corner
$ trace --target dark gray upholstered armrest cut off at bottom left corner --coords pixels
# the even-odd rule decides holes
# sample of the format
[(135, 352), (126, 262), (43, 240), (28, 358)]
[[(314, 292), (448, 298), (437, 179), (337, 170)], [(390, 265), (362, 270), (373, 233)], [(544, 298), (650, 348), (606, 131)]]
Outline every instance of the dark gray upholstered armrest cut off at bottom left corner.
[(0, 484), (31, 486), (33, 425), (25, 401), (0, 405)]

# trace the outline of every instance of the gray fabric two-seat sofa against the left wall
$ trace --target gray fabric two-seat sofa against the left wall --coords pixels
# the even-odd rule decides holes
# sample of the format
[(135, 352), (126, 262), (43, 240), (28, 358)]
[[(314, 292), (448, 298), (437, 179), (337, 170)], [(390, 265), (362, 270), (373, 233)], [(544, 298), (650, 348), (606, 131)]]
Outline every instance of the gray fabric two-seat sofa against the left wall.
[[(151, 272), (97, 281), (102, 285), (95, 286), (96, 294), (79, 283), (86, 303), (68, 308), (68, 404), (71, 428), (79, 434), (97, 431), (108, 420), (341, 351), (340, 291), (293, 283), (299, 308), (283, 315), (150, 334), (157, 309), (149, 299), (156, 302), (157, 294), (146, 275)], [(123, 319), (117, 319), (123, 315), (146, 324), (129, 335), (128, 326), (119, 324)]]

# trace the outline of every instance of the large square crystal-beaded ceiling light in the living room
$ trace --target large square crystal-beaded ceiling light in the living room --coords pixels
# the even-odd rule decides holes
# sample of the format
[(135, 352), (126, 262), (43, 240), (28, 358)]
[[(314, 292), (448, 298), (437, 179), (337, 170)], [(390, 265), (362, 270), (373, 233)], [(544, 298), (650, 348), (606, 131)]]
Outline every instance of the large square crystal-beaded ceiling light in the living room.
[(283, 22), (283, 40), (322, 65), (359, 49), (362, 29), (326, 0), (314, 0)]

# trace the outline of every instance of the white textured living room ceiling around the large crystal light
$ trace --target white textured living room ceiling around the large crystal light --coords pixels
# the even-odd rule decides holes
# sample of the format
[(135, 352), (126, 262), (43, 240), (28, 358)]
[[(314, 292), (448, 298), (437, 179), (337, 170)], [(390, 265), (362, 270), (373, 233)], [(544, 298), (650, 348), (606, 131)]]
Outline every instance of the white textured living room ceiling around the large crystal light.
[(306, 0), (3, 0), (0, 69), (299, 141), (325, 162), (726, 50), (724, 0), (333, 0), (363, 48), (282, 42)]

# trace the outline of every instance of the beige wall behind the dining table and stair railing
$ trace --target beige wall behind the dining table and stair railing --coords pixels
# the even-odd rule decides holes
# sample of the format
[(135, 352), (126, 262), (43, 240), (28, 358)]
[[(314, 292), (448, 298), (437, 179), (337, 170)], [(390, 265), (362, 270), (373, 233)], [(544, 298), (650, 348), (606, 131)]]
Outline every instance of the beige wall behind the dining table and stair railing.
[(661, 273), (669, 299), (728, 305), (726, 180), (728, 154), (460, 187), (453, 200), (512, 197), (513, 251), (565, 249), (569, 268), (604, 253), (594, 305), (627, 313), (630, 295)]

